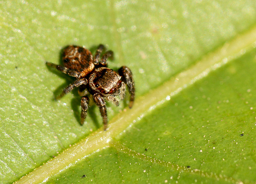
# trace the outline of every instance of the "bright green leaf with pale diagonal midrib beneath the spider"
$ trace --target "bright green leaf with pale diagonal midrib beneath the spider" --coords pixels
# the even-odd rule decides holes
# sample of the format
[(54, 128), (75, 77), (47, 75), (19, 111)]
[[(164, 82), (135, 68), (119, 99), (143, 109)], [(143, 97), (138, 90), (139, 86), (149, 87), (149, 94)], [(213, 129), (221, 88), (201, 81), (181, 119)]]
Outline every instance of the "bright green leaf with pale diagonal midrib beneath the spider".
[[(256, 2), (0, 7), (0, 183), (256, 181)], [(53, 100), (72, 78), (45, 65), (100, 43), (136, 82), (132, 109), (108, 104), (107, 131), (95, 106), (79, 125), (77, 90)]]

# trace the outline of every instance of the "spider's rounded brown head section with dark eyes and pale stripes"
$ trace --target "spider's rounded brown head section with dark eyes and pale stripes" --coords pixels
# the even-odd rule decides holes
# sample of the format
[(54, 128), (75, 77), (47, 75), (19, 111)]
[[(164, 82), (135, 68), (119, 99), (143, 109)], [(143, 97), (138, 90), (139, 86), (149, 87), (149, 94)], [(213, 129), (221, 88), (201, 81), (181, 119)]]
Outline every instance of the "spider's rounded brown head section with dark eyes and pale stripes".
[(114, 70), (101, 67), (97, 68), (89, 78), (89, 86), (94, 93), (101, 96), (117, 96), (122, 87), (122, 77)]

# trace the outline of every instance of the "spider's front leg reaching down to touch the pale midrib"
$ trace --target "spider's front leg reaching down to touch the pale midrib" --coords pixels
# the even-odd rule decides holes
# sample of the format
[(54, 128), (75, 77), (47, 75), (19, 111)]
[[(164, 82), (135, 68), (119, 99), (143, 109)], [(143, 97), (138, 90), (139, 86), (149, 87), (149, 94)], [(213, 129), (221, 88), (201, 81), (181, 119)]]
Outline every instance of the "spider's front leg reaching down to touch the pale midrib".
[(98, 106), (100, 108), (100, 114), (103, 119), (104, 130), (106, 130), (108, 128), (108, 116), (107, 116), (106, 102), (98, 93), (95, 93), (93, 95), (93, 100), (94, 100), (96, 106)]

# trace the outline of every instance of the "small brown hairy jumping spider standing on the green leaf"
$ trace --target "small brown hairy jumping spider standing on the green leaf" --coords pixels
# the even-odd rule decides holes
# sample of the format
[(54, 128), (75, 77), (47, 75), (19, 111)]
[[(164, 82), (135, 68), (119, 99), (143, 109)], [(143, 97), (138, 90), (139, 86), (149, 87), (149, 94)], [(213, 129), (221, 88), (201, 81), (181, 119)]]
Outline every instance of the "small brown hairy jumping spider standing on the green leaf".
[(74, 88), (79, 87), (78, 94), (82, 96), (81, 124), (84, 124), (88, 110), (88, 95), (92, 94), (95, 104), (100, 108), (104, 130), (106, 130), (108, 117), (105, 100), (111, 101), (118, 106), (119, 102), (117, 97), (119, 96), (120, 100), (124, 99), (125, 85), (127, 85), (130, 93), (129, 107), (132, 108), (135, 88), (130, 68), (122, 66), (118, 72), (115, 72), (107, 67), (107, 59), (113, 56), (111, 50), (105, 52), (100, 59), (104, 49), (104, 45), (100, 44), (93, 57), (90, 50), (84, 47), (68, 46), (63, 52), (64, 66), (50, 62), (46, 62), (46, 64), (76, 78), (72, 84), (64, 88), (56, 99), (61, 98)]

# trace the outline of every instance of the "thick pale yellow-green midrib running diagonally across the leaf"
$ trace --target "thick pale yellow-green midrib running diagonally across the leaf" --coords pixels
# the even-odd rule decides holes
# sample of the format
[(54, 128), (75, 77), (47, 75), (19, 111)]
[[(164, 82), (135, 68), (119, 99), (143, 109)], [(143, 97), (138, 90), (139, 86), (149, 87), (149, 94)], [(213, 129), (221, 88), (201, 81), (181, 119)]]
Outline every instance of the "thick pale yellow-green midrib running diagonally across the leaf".
[(256, 27), (244, 34), (239, 34), (230, 42), (226, 42), (222, 47), (204, 56), (193, 66), (170, 78), (148, 94), (136, 99), (132, 109), (124, 109), (110, 121), (107, 131), (100, 128), (87, 138), (64, 150), (56, 158), (49, 160), (30, 174), (22, 177), (16, 183), (46, 182), (48, 178), (69, 168), (78, 160), (109, 147), (112, 144), (111, 142), (121, 136), (127, 128), (138, 122), (154, 108), (170, 100), (184, 88), (206, 77), (211, 71), (248, 52), (253, 48), (254, 42), (256, 42)]

